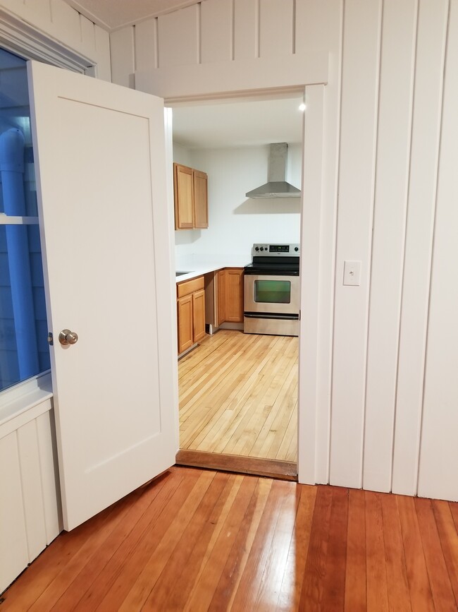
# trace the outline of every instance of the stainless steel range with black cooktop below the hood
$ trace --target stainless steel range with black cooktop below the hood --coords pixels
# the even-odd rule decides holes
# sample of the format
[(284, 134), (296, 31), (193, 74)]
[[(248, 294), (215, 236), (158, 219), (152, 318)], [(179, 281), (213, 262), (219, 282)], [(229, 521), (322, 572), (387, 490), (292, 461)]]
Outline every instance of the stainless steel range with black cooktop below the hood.
[(244, 332), (299, 334), (299, 244), (254, 244), (245, 266)]

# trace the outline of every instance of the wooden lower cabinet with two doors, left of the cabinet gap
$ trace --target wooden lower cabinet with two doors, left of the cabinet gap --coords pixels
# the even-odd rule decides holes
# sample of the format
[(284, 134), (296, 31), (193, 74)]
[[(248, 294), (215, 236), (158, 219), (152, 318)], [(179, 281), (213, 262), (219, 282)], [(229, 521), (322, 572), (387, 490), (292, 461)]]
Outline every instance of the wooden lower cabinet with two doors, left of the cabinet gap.
[(205, 337), (204, 277), (177, 285), (178, 354)]

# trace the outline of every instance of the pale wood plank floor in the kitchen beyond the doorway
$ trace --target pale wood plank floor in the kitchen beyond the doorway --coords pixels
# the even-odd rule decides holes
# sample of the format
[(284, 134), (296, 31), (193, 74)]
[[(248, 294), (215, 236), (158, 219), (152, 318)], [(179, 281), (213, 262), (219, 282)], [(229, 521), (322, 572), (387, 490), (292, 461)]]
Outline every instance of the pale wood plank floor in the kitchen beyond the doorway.
[(296, 462), (297, 340), (219, 330), (183, 357), (180, 448)]

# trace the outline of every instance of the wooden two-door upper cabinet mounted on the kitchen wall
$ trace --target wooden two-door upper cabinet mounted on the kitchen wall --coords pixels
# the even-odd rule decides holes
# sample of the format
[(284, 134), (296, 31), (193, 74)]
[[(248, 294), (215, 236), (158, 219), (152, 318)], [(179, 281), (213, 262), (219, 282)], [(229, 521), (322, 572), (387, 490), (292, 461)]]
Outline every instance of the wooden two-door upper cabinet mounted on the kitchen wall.
[(205, 172), (173, 164), (175, 229), (209, 227), (208, 177)]

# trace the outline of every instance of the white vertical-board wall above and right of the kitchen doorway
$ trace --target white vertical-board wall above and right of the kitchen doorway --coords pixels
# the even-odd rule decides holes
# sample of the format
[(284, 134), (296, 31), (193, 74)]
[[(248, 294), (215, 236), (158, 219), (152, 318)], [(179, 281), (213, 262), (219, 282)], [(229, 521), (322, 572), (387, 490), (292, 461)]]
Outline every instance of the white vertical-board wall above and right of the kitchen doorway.
[[(137, 87), (165, 97), (327, 83), (323, 175), (309, 176), (319, 342), (301, 361), (317, 391), (299, 407), (317, 481), (458, 499), (457, 13), (458, 0), (206, 0), (111, 39), (116, 78), (137, 66)], [(345, 260), (361, 261), (359, 287), (343, 286)]]

